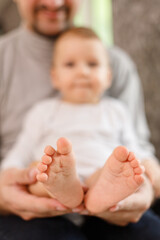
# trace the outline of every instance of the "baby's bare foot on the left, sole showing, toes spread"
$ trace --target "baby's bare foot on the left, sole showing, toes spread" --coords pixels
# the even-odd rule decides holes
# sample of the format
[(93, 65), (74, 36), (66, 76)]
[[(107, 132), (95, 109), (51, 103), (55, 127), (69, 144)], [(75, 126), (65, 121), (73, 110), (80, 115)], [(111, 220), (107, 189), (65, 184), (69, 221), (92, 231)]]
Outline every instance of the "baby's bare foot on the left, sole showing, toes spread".
[(51, 146), (45, 148), (45, 155), (38, 165), (37, 180), (49, 195), (68, 208), (75, 208), (83, 200), (83, 189), (76, 174), (75, 158), (71, 143), (60, 138), (57, 151)]

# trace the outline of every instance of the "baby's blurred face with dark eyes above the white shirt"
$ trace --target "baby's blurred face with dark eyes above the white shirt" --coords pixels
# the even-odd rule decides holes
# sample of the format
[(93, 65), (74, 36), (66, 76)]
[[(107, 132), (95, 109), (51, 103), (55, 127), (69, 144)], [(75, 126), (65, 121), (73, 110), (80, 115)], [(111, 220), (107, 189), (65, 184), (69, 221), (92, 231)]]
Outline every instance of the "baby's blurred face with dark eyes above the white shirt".
[(111, 82), (106, 51), (100, 40), (77, 36), (60, 39), (55, 49), (52, 79), (64, 101), (98, 102)]

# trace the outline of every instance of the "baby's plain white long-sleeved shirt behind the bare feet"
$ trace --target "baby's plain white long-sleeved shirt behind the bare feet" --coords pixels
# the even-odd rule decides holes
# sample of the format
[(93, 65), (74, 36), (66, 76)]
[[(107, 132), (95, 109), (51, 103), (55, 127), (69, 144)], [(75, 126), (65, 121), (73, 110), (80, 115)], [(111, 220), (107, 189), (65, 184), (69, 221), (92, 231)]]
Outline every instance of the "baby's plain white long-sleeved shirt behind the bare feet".
[(56, 149), (60, 137), (68, 138), (73, 145), (81, 180), (101, 168), (119, 145), (134, 151), (140, 159), (150, 155), (139, 148), (130, 116), (120, 101), (108, 97), (96, 104), (72, 104), (54, 98), (29, 111), (2, 169), (24, 168), (40, 160), (46, 145)]

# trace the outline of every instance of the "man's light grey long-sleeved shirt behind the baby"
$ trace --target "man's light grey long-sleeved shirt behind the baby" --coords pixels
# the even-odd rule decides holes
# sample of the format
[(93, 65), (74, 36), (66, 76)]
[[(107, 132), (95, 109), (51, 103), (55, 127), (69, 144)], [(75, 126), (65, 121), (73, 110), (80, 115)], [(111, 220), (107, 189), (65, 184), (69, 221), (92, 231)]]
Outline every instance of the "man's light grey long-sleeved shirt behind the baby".
[[(50, 79), (53, 46), (53, 40), (32, 33), (24, 27), (0, 39), (1, 159), (15, 143), (28, 109), (39, 100), (56, 94)], [(154, 148), (149, 143), (150, 134), (136, 67), (119, 48), (108, 49), (108, 53), (113, 83), (106, 94), (127, 105), (139, 144), (154, 156)]]

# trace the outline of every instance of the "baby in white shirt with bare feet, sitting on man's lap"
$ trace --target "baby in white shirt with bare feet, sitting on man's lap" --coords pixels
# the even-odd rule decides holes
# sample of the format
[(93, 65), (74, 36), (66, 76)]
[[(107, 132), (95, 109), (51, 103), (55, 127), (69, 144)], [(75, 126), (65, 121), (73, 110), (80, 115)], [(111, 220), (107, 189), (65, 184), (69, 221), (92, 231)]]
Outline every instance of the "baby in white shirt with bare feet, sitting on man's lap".
[(2, 168), (26, 167), (40, 159), (47, 146), (37, 166), (38, 181), (29, 187), (32, 193), (55, 198), (68, 208), (84, 201), (93, 213), (112, 209), (144, 181), (143, 167), (127, 148), (141, 160), (150, 156), (139, 149), (123, 104), (102, 98), (111, 85), (111, 72), (98, 36), (88, 28), (63, 33), (54, 48), (51, 75), (61, 96), (28, 113)]

